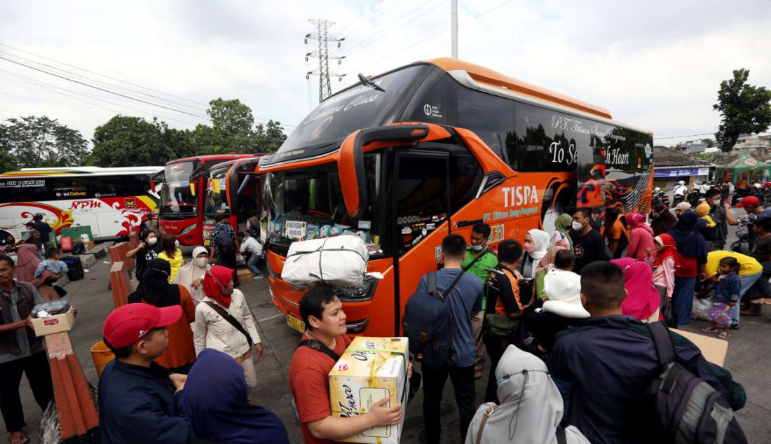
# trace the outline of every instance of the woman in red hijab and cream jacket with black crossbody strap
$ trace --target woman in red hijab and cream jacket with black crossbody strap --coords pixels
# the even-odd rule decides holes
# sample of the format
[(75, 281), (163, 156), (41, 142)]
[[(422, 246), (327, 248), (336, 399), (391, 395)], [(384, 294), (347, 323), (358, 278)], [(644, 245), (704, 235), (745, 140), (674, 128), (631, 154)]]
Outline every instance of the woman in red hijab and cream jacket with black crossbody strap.
[(204, 300), (195, 308), (195, 352), (214, 348), (241, 362), (249, 389), (257, 386), (251, 345), (262, 356), (262, 343), (244, 294), (234, 290), (233, 270), (215, 265), (204, 276)]

